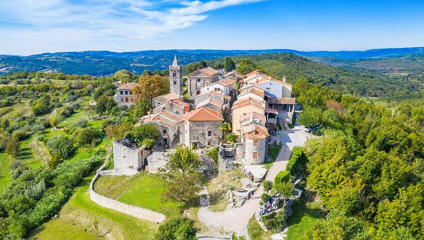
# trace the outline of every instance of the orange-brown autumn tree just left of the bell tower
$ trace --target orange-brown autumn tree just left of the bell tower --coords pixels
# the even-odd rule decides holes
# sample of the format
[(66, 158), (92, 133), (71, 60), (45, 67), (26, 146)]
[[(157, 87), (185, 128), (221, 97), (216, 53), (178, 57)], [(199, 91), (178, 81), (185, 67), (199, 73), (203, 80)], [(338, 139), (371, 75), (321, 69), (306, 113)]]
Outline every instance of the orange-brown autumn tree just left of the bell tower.
[(153, 98), (169, 92), (169, 78), (167, 77), (142, 76), (138, 83), (139, 86), (133, 89), (136, 99), (146, 98), (149, 102), (152, 102)]

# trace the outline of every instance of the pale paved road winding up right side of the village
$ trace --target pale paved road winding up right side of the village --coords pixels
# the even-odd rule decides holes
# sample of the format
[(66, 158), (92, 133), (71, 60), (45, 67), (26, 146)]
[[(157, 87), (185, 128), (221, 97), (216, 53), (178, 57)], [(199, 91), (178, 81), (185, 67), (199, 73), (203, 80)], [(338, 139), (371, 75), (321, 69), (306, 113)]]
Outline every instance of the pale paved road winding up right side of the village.
[[(295, 126), (293, 129), (284, 131), (280, 136), (283, 146), (274, 165), (269, 169), (265, 179), (273, 181), (278, 172), (286, 168), (293, 147), (303, 146), (308, 133), (303, 131), (302, 126)], [(230, 209), (220, 213), (213, 213), (207, 207), (199, 210), (198, 218), (210, 230), (222, 229), (226, 232), (234, 232), (238, 235), (246, 235), (246, 226), (249, 219), (256, 212), (260, 196), (263, 190), (260, 187), (253, 197), (246, 201), (241, 208)]]

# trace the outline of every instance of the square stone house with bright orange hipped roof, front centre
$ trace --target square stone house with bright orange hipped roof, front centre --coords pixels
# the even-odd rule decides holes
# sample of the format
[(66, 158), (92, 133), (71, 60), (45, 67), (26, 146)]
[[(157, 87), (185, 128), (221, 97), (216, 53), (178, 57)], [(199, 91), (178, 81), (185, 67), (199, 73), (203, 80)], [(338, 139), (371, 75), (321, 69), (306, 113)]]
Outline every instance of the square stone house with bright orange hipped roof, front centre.
[(223, 120), (219, 113), (206, 107), (184, 114), (180, 120), (180, 144), (193, 148), (218, 146), (222, 137), (219, 125)]

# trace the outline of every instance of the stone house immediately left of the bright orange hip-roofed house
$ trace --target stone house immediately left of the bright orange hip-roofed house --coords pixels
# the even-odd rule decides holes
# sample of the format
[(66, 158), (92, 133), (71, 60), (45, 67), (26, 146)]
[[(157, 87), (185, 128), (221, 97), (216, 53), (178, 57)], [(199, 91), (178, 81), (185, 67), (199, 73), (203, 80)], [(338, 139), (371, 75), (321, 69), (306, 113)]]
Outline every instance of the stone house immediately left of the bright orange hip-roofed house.
[(143, 121), (143, 123), (155, 124), (158, 127), (162, 138), (156, 140), (156, 142), (159, 146), (164, 146), (165, 148), (172, 144), (174, 139), (178, 137), (178, 122), (181, 120), (181, 118), (182, 116), (168, 110), (151, 115), (149, 118), (141, 121)]

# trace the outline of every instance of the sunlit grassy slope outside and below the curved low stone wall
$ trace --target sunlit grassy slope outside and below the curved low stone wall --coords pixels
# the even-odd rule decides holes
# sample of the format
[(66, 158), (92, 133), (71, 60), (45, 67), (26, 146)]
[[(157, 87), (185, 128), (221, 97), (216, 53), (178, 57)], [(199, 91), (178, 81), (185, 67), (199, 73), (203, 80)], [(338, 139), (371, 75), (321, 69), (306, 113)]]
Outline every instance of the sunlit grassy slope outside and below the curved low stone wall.
[(58, 218), (31, 233), (39, 240), (151, 240), (158, 225), (103, 208), (90, 200), (86, 177), (63, 206)]

